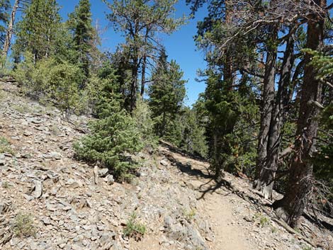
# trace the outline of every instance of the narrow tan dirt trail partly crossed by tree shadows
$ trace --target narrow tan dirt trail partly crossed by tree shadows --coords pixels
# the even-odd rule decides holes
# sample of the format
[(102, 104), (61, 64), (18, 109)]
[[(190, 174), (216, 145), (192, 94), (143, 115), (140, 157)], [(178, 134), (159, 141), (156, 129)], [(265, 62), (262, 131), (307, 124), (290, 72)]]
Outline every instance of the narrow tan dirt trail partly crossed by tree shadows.
[[(237, 208), (227, 188), (222, 188), (210, 178), (208, 166), (205, 161), (188, 158), (171, 147), (161, 147), (166, 157), (173, 161), (184, 173), (179, 181), (184, 181), (186, 186), (198, 192), (198, 200), (201, 200), (201, 210), (210, 218), (214, 237), (209, 239), (210, 249), (214, 250), (251, 250), (259, 249), (249, 241), (249, 235), (242, 227), (237, 225), (237, 218), (233, 215), (233, 208)], [(224, 183), (230, 185), (228, 181)]]

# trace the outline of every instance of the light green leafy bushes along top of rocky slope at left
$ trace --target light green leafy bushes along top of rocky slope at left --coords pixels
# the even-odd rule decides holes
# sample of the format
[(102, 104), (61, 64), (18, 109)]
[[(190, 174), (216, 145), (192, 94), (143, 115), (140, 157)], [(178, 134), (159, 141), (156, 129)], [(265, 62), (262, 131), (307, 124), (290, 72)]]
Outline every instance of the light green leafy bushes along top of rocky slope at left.
[(57, 62), (53, 57), (34, 64), (32, 55), (27, 52), (13, 74), (28, 96), (56, 103), (67, 118), (85, 108), (85, 93), (79, 89), (81, 69), (74, 64)]

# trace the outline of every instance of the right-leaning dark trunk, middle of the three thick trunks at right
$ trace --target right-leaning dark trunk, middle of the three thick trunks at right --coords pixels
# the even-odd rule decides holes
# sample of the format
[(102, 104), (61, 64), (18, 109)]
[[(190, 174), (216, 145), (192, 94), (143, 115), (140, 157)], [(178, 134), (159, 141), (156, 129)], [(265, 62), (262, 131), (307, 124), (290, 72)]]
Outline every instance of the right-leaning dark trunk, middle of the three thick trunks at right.
[(290, 87), (290, 75), (295, 61), (293, 55), (294, 42), (290, 34), (286, 51), (283, 57), (281, 67), (280, 80), (278, 81), (278, 92), (276, 93), (276, 101), (273, 106), (271, 122), (269, 125), (268, 141), (267, 141), (267, 156), (264, 161), (264, 167), (257, 176), (257, 183), (260, 186), (256, 187), (261, 190), (265, 198), (272, 198), (274, 179), (278, 170), (278, 153), (280, 152), (281, 144), (281, 129), (286, 118), (286, 104), (288, 100), (288, 91)]

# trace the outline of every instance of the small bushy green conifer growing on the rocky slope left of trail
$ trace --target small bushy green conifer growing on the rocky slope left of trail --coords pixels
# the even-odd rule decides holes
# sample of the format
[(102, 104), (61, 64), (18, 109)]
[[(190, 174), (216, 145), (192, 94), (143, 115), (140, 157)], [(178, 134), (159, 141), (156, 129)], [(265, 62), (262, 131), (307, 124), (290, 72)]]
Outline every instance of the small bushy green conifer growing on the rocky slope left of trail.
[(98, 120), (91, 123), (91, 134), (74, 144), (79, 159), (100, 162), (119, 180), (130, 178), (136, 164), (130, 154), (142, 149), (140, 133), (134, 120), (120, 107), (115, 79), (103, 82), (96, 112)]

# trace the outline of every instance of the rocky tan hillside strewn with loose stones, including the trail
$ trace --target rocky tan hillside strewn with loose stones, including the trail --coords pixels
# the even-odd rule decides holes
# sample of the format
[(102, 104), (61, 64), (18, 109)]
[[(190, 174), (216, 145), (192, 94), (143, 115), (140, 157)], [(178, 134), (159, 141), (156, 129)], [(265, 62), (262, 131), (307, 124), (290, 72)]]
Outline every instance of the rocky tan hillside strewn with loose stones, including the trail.
[[(207, 162), (166, 142), (135, 156), (132, 183), (116, 183), (74, 159), (88, 118), (68, 123), (19, 93), (0, 83), (0, 249), (333, 249), (329, 230), (302, 218), (290, 233), (246, 178), (215, 183)], [(133, 213), (143, 236), (124, 235)]]

